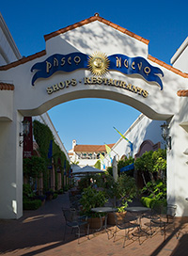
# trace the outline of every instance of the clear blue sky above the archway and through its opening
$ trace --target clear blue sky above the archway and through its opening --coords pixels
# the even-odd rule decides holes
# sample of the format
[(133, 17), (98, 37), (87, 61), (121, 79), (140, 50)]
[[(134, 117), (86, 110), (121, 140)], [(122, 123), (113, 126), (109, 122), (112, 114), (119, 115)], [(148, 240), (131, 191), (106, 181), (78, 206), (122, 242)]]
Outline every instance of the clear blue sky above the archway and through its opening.
[[(170, 64), (188, 33), (187, 1), (2, 1), (2, 13), (22, 56), (45, 49), (43, 36), (100, 16), (149, 40), (149, 55)], [(49, 111), (67, 151), (78, 144), (117, 142), (115, 126), (124, 133), (140, 113), (126, 104), (83, 99), (60, 104)]]

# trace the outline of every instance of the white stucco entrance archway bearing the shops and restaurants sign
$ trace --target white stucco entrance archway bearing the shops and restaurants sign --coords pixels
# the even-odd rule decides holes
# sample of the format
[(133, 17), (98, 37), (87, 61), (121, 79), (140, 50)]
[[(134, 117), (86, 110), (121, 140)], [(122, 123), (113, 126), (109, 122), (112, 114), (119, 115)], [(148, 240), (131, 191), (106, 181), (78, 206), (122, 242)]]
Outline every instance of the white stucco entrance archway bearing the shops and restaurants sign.
[[(0, 141), (8, 152), (0, 151), (1, 175), (5, 181), (0, 185), (0, 193), (8, 194), (7, 199), (0, 201), (4, 209), (0, 217), (18, 218), (23, 212), (23, 158), (19, 146), (23, 117), (39, 115), (56, 104), (80, 98), (115, 100), (133, 106), (150, 119), (168, 121), (172, 136), (172, 150), (168, 152), (168, 200), (175, 201), (177, 168), (180, 166), (183, 172), (186, 169), (180, 163), (178, 151), (180, 141), (187, 139), (185, 133), (180, 133), (182, 118), (177, 91), (186, 88), (187, 76), (149, 56), (149, 40), (99, 15), (44, 39), (45, 51), (0, 67), (1, 79), (12, 81), (10, 86), (14, 87), (0, 95), (1, 103), (6, 106), (0, 110)], [(102, 77), (89, 68), (89, 56), (92, 59), (100, 56), (102, 61), (108, 58), (107, 72)], [(92, 65), (97, 68), (95, 63)], [(179, 193), (182, 205), (184, 192)], [(182, 208), (179, 215), (184, 214)]]

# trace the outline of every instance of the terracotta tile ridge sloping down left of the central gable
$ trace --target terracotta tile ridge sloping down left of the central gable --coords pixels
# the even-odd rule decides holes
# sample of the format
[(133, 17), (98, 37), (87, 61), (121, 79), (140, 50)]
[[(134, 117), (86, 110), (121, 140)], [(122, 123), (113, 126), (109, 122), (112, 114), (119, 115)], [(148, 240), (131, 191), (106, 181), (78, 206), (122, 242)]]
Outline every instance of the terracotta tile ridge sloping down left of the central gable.
[(24, 64), (24, 63), (26, 63), (28, 61), (31, 61), (31, 60), (33, 60), (35, 58), (38, 58), (40, 56), (45, 56), (45, 55), (46, 55), (46, 50), (42, 50), (39, 53), (36, 53), (34, 55), (25, 56), (25, 57), (23, 57), (21, 59), (18, 59), (18, 60), (14, 61), (14, 62), (11, 62), (11, 63), (7, 64), (7, 65), (0, 66), (0, 71), (7, 71), (7, 70), (9, 70), (11, 68), (17, 67), (17, 66), (19, 66), (21, 64)]

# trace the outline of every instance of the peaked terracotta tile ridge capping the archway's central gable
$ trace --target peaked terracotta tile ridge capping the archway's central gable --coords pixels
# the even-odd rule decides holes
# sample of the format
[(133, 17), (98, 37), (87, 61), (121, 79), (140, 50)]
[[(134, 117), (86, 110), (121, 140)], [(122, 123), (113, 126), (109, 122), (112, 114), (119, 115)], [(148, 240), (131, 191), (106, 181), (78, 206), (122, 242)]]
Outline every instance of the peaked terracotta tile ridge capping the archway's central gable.
[(87, 18), (87, 19), (85, 19), (85, 20), (83, 20), (81, 22), (68, 25), (68, 26), (66, 26), (64, 28), (56, 30), (55, 32), (52, 32), (52, 33), (47, 34), (47, 35), (44, 35), (44, 40), (50, 40), (50, 39), (52, 39), (52, 38), (54, 38), (54, 37), (56, 37), (56, 36), (58, 36), (60, 34), (63, 34), (65, 32), (70, 31), (70, 30), (72, 30), (74, 28), (83, 26), (85, 24), (90, 24), (90, 23), (95, 22), (95, 21), (99, 21), (99, 22), (101, 22), (103, 24), (107, 24), (107, 25), (117, 29), (118, 31), (120, 31), (120, 32), (122, 32), (122, 33), (124, 33), (124, 34), (126, 34), (126, 35), (128, 35), (128, 36), (130, 36), (130, 37), (132, 37), (134, 39), (136, 39), (136, 40), (140, 40), (140, 41), (142, 41), (142, 42), (144, 42), (146, 44), (149, 44), (149, 40), (146, 40), (146, 39), (144, 39), (144, 38), (134, 34), (133, 32), (129, 31), (128, 29), (126, 29), (126, 28), (124, 28), (124, 27), (122, 27), (122, 26), (120, 26), (118, 24), (114, 24), (114, 23), (112, 23), (112, 22), (102, 18), (99, 15), (99, 13), (95, 13), (94, 16), (91, 16), (91, 17), (89, 17), (89, 18)]

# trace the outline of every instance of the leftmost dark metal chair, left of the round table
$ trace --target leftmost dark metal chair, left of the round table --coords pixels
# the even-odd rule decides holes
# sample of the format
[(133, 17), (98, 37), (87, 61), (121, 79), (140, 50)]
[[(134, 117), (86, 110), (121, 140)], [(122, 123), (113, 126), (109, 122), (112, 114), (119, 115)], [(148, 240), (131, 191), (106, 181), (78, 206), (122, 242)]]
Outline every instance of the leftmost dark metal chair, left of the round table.
[(77, 216), (75, 209), (64, 209), (62, 208), (63, 215), (65, 217), (66, 225), (65, 225), (65, 231), (64, 231), (64, 240), (65, 240), (65, 234), (67, 231), (67, 226), (71, 228), (71, 232), (77, 230), (78, 234), (78, 244), (79, 244), (79, 238), (81, 236), (81, 227), (86, 228), (86, 235), (87, 239), (89, 239), (89, 224), (87, 222), (87, 218)]

